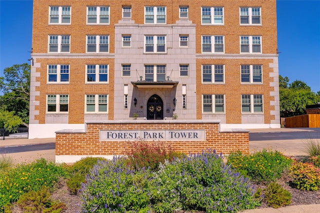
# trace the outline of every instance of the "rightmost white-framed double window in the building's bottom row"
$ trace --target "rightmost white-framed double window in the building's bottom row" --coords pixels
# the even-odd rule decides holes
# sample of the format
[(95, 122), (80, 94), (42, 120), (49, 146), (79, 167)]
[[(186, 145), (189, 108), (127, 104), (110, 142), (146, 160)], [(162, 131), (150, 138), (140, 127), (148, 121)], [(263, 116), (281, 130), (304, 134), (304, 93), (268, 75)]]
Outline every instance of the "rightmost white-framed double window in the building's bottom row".
[(242, 113), (263, 113), (263, 95), (241, 95), (241, 111)]

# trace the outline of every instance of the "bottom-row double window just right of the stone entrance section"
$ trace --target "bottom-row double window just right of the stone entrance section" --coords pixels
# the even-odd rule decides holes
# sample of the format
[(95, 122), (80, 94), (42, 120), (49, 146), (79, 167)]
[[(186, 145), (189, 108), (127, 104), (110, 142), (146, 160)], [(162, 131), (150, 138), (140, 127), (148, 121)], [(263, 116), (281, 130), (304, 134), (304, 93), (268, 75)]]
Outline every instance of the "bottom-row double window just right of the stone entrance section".
[(202, 95), (203, 113), (224, 113), (224, 95), (223, 94), (204, 94)]

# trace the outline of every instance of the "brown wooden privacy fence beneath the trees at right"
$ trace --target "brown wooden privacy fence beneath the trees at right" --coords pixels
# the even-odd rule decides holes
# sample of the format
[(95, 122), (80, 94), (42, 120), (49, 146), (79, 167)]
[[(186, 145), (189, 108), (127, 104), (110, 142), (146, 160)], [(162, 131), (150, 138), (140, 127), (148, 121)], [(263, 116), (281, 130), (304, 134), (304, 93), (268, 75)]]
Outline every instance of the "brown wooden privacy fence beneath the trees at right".
[(319, 128), (320, 114), (298, 115), (285, 118), (286, 128)]

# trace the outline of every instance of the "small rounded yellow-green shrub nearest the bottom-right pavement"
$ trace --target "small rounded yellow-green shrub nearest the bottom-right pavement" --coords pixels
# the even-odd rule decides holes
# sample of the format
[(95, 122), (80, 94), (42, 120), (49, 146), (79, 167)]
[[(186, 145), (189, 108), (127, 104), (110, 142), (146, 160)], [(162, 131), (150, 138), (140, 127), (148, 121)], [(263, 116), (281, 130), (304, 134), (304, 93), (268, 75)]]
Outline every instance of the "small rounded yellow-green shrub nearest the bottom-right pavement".
[(270, 183), (264, 192), (264, 201), (272, 208), (291, 204), (291, 194), (277, 183)]

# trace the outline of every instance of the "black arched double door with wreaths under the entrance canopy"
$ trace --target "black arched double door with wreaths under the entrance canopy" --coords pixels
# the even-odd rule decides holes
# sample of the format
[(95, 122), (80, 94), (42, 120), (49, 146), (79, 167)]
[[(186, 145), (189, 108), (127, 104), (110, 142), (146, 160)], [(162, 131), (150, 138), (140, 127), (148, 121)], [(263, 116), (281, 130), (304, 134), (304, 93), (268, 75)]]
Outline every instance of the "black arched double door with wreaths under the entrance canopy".
[(163, 119), (163, 102), (158, 95), (152, 95), (147, 103), (147, 119), (162, 120)]

